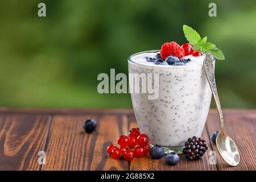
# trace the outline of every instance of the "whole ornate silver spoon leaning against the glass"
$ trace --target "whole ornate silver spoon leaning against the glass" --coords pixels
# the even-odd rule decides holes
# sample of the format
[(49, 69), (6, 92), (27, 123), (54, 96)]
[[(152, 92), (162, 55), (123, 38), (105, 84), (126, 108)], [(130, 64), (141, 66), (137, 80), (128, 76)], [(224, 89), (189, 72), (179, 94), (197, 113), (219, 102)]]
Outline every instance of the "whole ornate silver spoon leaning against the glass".
[(240, 162), (240, 155), (234, 141), (224, 132), (224, 119), (221, 110), (220, 100), (218, 99), (216, 81), (214, 76), (213, 57), (209, 53), (205, 56), (204, 59), (204, 70), (210, 85), (210, 89), (212, 89), (213, 97), (218, 109), (218, 114), (220, 115), (220, 131), (216, 138), (218, 152), (220, 152), (222, 158), (230, 166), (237, 166)]

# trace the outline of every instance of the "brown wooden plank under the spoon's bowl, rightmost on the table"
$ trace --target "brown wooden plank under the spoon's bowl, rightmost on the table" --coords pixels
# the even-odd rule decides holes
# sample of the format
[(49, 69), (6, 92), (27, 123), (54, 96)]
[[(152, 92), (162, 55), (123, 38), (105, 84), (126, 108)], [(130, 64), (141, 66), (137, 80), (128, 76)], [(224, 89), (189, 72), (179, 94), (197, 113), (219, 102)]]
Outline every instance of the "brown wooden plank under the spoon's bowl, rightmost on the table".
[[(224, 110), (225, 132), (236, 142), (240, 151), (240, 164), (230, 167), (217, 153), (218, 170), (256, 170), (256, 110)], [(220, 124), (217, 110), (211, 110), (207, 128), (209, 137), (214, 131), (219, 130)], [(216, 145), (212, 142), (213, 150), (217, 151)]]

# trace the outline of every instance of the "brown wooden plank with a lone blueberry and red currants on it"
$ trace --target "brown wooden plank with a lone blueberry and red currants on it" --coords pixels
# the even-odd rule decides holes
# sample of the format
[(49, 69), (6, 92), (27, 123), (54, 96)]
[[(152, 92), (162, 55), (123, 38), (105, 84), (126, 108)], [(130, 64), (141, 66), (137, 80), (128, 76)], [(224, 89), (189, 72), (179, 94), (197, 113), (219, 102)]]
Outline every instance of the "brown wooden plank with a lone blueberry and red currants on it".
[[(98, 121), (97, 131), (84, 132), (86, 119)], [(42, 170), (127, 170), (129, 163), (112, 159), (106, 152), (127, 128), (126, 115), (55, 115)]]

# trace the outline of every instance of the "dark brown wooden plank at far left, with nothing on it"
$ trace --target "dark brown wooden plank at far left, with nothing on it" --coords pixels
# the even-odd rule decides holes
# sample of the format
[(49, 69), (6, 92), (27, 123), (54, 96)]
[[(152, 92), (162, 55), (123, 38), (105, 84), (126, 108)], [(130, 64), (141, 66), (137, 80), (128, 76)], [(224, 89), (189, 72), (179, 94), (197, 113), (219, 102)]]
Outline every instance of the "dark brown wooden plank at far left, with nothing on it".
[(43, 150), (48, 115), (0, 115), (0, 170), (36, 170)]

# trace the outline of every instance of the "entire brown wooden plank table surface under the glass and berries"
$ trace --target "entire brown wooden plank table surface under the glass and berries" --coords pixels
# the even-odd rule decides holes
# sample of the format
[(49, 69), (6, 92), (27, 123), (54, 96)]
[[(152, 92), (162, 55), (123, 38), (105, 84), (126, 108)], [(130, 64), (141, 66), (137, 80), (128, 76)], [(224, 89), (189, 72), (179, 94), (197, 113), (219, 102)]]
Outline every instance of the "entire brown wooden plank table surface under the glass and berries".
[[(202, 159), (188, 162), (181, 155), (176, 166), (150, 156), (128, 163), (110, 158), (106, 148), (118, 136), (137, 127), (129, 109), (10, 109), (0, 107), (0, 170), (253, 170), (256, 169), (256, 109), (224, 110), (226, 133), (241, 155), (237, 167), (229, 167), (217, 154), (209, 164), (209, 151), (217, 151), (210, 136), (218, 130), (217, 110), (210, 110), (203, 138), (209, 149)], [(82, 123), (98, 122), (97, 131), (86, 134)], [(39, 165), (39, 151), (46, 151), (46, 164)]]

